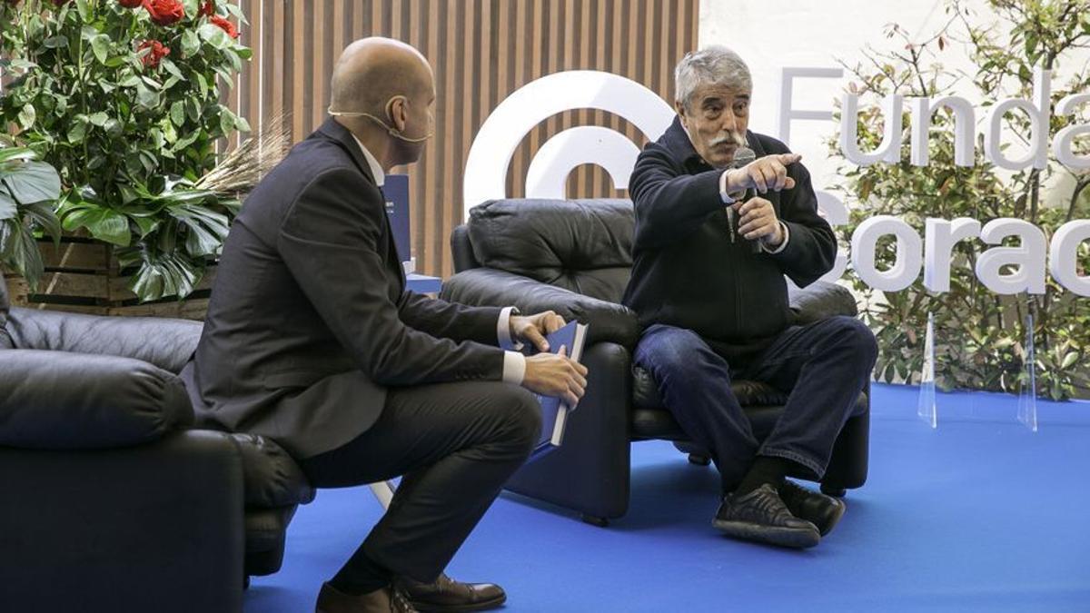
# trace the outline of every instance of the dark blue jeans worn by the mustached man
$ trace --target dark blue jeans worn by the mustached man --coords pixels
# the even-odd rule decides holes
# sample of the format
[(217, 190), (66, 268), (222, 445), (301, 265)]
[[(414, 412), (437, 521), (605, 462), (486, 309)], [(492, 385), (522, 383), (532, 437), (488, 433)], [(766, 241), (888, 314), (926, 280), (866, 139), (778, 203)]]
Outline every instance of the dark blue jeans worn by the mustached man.
[[(634, 361), (654, 377), (686, 434), (711, 452), (726, 493), (759, 455), (787, 458), (821, 479), (876, 357), (874, 335), (862, 322), (835, 316), (785, 329), (744, 364), (728, 364), (690, 329), (655, 324), (643, 333)], [(789, 393), (764, 441), (754, 437), (731, 377)]]

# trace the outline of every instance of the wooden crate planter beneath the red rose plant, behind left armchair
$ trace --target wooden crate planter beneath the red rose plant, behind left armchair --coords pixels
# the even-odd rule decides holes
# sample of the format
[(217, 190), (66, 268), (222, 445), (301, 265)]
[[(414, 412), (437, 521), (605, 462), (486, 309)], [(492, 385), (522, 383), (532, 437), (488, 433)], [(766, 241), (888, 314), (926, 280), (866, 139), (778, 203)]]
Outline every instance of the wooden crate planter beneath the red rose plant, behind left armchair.
[(196, 289), (184, 300), (169, 298), (141, 303), (128, 284), (129, 271), (121, 271), (110, 245), (83, 237), (64, 237), (59, 248), (39, 243), (46, 274), (32, 292), (26, 280), (10, 273), (4, 283), (12, 304), (95, 315), (181, 317), (204, 320), (208, 296), (216, 277), (209, 266)]

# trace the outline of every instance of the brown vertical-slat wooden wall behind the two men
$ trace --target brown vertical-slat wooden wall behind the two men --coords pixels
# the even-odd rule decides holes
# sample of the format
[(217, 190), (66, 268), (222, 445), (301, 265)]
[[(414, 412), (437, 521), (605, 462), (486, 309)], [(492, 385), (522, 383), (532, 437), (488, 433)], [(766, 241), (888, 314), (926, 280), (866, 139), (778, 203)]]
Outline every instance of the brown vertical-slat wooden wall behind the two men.
[[(473, 136), (504, 98), (562, 70), (604, 70), (673, 99), (674, 65), (697, 46), (699, 0), (235, 0), (250, 21), (242, 41), (254, 57), (229, 99), (254, 131), (287, 115), (293, 141), (325, 120), (329, 75), (346, 45), (371, 35), (419, 48), (436, 74), (437, 134), (410, 176), (412, 249), (420, 272), (452, 273), (448, 239), (461, 223), (462, 172)], [(567, 111), (542, 122), (511, 160), (508, 194), (522, 195), (534, 154), (574, 125), (604, 125), (642, 144), (627, 121)], [(584, 165), (572, 197), (625, 195)]]

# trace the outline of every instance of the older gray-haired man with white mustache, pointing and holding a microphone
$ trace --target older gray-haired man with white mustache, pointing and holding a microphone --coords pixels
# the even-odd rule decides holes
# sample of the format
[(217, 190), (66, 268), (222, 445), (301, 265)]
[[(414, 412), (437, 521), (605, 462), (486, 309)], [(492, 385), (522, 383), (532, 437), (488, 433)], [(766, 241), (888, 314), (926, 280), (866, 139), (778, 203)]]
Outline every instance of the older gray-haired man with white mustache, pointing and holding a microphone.
[[(800, 156), (747, 130), (753, 87), (742, 59), (708, 47), (687, 55), (675, 76), (678, 117), (629, 181), (637, 223), (623, 301), (645, 328), (634, 361), (712, 454), (723, 485), (713, 525), (739, 539), (813, 546), (845, 504), (786, 477), (824, 474), (874, 366), (874, 336), (852, 317), (794, 325), (784, 276), (807, 286), (827, 273), (836, 238)], [(753, 435), (731, 377), (790, 392), (765, 440)]]

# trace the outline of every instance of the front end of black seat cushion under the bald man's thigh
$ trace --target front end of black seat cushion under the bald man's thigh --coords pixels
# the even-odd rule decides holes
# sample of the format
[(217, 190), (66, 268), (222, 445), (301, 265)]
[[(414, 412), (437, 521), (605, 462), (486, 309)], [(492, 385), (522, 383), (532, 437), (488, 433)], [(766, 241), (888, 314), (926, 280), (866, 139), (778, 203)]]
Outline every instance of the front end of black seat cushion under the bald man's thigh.
[(283, 448), (257, 434), (239, 432), (231, 437), (242, 453), (247, 509), (293, 506), (314, 500), (314, 488)]

